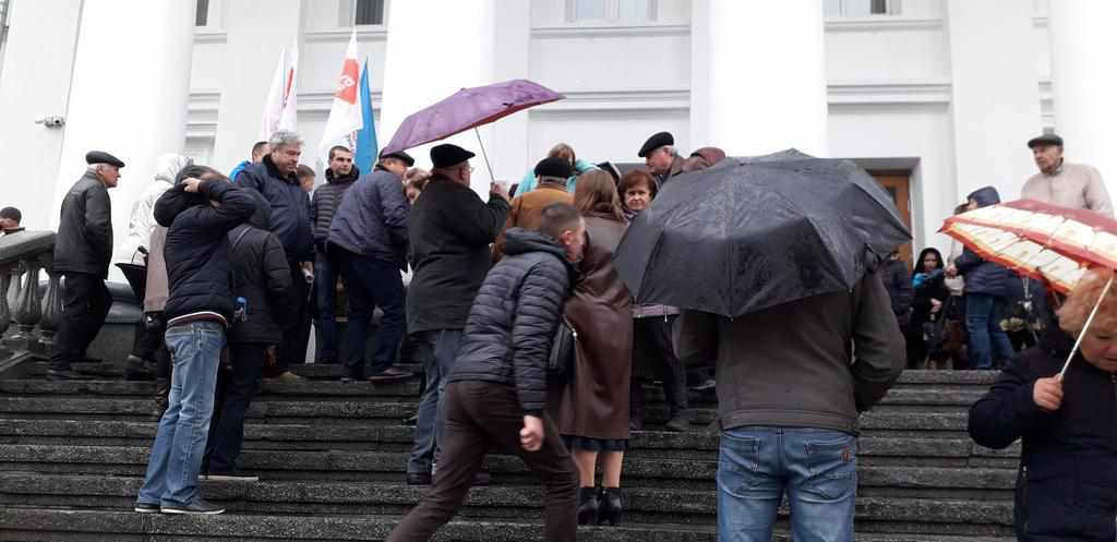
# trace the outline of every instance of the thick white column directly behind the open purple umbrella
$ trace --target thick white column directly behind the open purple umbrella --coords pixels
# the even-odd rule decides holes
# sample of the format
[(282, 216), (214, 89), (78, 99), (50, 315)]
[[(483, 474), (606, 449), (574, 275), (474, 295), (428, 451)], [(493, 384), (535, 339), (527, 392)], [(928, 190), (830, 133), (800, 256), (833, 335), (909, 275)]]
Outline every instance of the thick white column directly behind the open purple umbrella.
[[(393, 1), (388, 13), (384, 60), (384, 101), (378, 135), (388, 144), (403, 120), (462, 87), (494, 79), (496, 0)], [(521, 113), (522, 114), (522, 113)], [(480, 129), (491, 151), (491, 126)], [(472, 160), (474, 190), (488, 193), (489, 174), (474, 131), (448, 142), (477, 153)], [(437, 143), (436, 143), (437, 144)], [(429, 149), (411, 149), (417, 164), (430, 167)], [(491, 158), (491, 152), (490, 152)]]

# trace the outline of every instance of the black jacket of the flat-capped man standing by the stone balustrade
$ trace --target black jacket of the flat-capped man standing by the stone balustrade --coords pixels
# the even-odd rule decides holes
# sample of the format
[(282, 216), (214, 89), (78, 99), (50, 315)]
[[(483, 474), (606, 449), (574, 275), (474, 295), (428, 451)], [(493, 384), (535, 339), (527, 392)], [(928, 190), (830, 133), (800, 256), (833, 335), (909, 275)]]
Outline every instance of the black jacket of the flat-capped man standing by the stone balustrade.
[(63, 199), (55, 238), (55, 270), (108, 278), (113, 257), (113, 210), (108, 189), (87, 171)]

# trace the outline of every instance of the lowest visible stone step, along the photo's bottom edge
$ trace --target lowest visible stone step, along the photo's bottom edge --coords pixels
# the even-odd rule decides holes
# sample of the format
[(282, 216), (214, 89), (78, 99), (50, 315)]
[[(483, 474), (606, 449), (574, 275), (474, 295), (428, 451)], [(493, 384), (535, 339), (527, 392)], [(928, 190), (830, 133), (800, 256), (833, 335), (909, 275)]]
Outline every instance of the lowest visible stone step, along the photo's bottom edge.
[[(398, 515), (247, 515), (164, 516), (121, 511), (73, 511), (31, 507), (0, 510), (0, 539), (19, 542), (66, 541), (108, 542), (121, 540), (162, 540), (173, 542), (319, 542), (382, 541), (399, 522)], [(857, 525), (858, 542), (1013, 542), (1009, 535), (974, 536), (866, 532), (871, 524)], [(94, 534), (97, 533), (97, 534)], [(458, 542), (537, 542), (540, 523), (461, 521), (448, 523), (435, 540)], [(715, 542), (708, 525), (640, 525), (579, 527), (582, 542)], [(786, 542), (785, 529), (774, 536)]]

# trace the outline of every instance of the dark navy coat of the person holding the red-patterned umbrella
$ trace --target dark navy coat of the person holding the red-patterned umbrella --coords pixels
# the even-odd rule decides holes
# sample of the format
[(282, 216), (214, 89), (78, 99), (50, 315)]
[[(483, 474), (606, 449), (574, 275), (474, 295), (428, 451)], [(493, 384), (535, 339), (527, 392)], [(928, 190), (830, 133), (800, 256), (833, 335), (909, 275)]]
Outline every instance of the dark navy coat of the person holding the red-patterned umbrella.
[(1022, 439), (1015, 526), (1023, 542), (1111, 542), (1117, 521), (1117, 374), (1076, 355), (1058, 411), (1032, 398), (1035, 381), (1058, 374), (1073, 345), (1049, 330), (1009, 363), (970, 409), (970, 436), (987, 448)]

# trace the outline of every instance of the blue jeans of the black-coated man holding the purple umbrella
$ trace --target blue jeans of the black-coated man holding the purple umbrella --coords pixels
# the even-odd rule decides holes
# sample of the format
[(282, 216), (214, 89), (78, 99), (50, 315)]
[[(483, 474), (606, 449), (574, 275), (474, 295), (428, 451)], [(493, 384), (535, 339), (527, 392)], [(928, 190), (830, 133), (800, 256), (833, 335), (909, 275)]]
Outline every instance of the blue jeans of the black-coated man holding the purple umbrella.
[(430, 473), (442, 441), (446, 426), (446, 377), (450, 375), (454, 360), (461, 343), (461, 330), (431, 330), (416, 333), (423, 351), (422, 367), (427, 373), (427, 388), (419, 401), (416, 421), (416, 444), (408, 460), (408, 473)]

